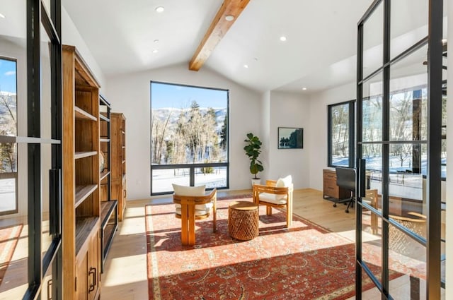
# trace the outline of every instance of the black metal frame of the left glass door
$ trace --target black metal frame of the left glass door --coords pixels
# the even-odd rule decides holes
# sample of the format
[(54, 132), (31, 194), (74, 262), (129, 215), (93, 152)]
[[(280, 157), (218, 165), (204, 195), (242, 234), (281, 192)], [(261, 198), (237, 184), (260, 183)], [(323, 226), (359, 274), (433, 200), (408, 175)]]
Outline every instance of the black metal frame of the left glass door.
[[(40, 299), (47, 289), (52, 299), (62, 299), (62, 3), (50, 0), (27, 1), (27, 136), (18, 142), (28, 148), (28, 289), (23, 299)], [(51, 138), (42, 138), (41, 25), (49, 37)], [(42, 185), (42, 145), (50, 145), (52, 157), (49, 186)], [(46, 153), (47, 154), (47, 153)], [(49, 189), (49, 234), (52, 241), (42, 256), (42, 188)], [(45, 275), (52, 279), (45, 282)], [(47, 286), (45, 286), (47, 284)], [(50, 296), (50, 295), (48, 295)]]

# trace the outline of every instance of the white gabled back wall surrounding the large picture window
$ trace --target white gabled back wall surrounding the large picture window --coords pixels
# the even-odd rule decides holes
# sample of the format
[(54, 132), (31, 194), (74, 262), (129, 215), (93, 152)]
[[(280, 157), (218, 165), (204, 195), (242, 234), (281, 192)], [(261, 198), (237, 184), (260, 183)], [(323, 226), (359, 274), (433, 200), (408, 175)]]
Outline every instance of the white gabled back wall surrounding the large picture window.
[(243, 140), (248, 132), (261, 135), (260, 95), (209, 68), (194, 72), (188, 70), (187, 64), (178, 64), (108, 78), (107, 99), (112, 104), (113, 112), (122, 112), (126, 117), (128, 199), (150, 196), (151, 80), (229, 90), (229, 187), (233, 190), (250, 188), (251, 174), (248, 157), (243, 152)]

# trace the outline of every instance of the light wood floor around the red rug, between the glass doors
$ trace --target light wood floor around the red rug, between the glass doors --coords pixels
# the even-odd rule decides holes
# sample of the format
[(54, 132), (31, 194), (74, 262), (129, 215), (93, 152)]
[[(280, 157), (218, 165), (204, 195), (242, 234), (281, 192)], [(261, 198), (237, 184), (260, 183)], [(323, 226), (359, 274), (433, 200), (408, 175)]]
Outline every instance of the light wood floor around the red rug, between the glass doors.
[[(251, 193), (251, 191), (219, 191), (218, 197)], [(332, 207), (321, 191), (294, 191), (294, 213), (333, 232), (354, 238), (355, 213), (345, 213), (345, 206)], [(127, 203), (125, 220), (120, 223), (105, 261), (102, 275), (103, 299), (148, 300), (147, 239), (144, 225), (144, 205), (171, 203), (171, 197), (153, 200), (134, 200)]]

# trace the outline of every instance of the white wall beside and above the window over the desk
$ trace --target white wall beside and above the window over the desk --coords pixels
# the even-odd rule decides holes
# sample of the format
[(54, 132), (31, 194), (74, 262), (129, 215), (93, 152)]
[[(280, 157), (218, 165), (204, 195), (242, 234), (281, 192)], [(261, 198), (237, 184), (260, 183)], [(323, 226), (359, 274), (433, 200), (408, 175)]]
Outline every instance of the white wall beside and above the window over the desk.
[(323, 189), (323, 169), (327, 167), (327, 105), (354, 100), (355, 83), (341, 85), (310, 95), (309, 124), (313, 133), (309, 135), (309, 186)]

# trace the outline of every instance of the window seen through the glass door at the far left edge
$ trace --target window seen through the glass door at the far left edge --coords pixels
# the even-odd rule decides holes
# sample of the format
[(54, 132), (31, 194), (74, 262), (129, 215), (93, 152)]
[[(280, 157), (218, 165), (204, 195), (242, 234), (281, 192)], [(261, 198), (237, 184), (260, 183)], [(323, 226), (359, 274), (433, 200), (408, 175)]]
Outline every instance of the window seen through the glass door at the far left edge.
[[(0, 136), (17, 136), (16, 61), (0, 57)], [(0, 143), (0, 215), (18, 212), (17, 144)]]

